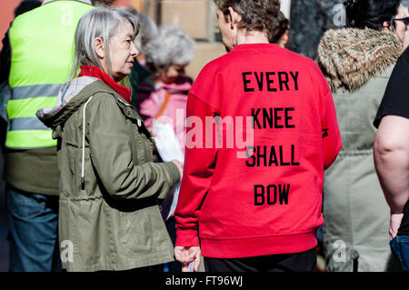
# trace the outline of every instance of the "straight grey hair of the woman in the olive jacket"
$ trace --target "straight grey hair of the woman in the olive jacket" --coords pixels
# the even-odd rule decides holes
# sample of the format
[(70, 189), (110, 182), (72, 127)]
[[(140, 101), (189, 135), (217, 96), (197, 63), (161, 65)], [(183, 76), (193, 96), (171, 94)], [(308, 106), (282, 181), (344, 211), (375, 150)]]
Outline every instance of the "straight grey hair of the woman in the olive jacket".
[(109, 40), (117, 32), (122, 22), (129, 22), (134, 26), (134, 35), (139, 33), (139, 25), (134, 15), (114, 8), (94, 8), (83, 15), (75, 31), (75, 58), (70, 74), (73, 79), (80, 65), (94, 65), (103, 69), (94, 44), (95, 38), (100, 37), (105, 44), (105, 59), (108, 69), (107, 74), (112, 77), (111, 62), (109, 59)]

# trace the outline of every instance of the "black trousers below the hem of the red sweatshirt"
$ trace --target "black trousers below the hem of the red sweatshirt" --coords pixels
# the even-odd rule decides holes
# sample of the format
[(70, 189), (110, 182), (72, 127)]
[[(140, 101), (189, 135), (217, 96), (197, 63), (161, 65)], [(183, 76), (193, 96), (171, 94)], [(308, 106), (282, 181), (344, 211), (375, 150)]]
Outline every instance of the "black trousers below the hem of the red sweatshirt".
[(315, 268), (316, 248), (297, 254), (239, 259), (205, 257), (206, 272), (314, 272)]

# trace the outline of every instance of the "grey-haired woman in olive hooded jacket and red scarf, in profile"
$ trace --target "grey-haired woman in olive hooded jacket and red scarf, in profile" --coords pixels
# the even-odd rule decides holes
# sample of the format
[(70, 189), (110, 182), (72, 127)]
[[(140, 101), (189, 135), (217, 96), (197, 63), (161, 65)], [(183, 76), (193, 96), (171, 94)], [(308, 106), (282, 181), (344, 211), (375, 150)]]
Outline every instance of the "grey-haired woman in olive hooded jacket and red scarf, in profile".
[(181, 179), (177, 162), (152, 162), (151, 135), (118, 85), (129, 75), (138, 24), (109, 8), (85, 14), (75, 33), (78, 77), (54, 109), (37, 116), (53, 128), (60, 171), (60, 239), (68, 271), (150, 270), (174, 260), (158, 199)]

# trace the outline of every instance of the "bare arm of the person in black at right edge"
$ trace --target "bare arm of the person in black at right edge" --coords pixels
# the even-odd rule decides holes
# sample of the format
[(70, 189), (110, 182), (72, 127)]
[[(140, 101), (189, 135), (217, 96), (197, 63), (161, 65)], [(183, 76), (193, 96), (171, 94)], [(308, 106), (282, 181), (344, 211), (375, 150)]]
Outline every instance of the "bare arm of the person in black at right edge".
[(409, 199), (409, 119), (387, 115), (381, 121), (374, 140), (374, 164), (391, 208), (390, 237), (393, 238), (404, 216)]

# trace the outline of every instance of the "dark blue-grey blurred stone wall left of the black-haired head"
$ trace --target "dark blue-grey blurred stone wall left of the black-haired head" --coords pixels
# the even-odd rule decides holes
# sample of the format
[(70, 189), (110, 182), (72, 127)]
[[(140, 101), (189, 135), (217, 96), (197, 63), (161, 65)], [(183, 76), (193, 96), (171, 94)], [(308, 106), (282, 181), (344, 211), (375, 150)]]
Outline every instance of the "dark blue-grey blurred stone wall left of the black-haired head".
[(335, 27), (334, 5), (343, 0), (292, 0), (288, 49), (315, 59), (324, 31)]

